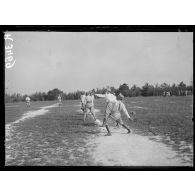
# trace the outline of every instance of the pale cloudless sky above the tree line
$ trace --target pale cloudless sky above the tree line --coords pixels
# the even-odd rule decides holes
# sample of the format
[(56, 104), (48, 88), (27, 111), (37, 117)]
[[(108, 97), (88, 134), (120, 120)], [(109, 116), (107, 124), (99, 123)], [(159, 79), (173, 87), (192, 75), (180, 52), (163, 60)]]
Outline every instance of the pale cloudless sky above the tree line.
[(127, 83), (190, 84), (192, 32), (9, 32), (7, 93), (63, 92)]

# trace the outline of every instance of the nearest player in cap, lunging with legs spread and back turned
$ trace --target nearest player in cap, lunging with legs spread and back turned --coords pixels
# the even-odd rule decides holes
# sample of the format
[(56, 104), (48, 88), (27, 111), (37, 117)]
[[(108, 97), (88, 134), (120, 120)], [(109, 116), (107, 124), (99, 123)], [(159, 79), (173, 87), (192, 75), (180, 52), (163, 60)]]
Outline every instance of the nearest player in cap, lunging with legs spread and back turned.
[(122, 125), (125, 129), (127, 129), (127, 131), (128, 131), (127, 133), (131, 132), (130, 128), (123, 123), (122, 118), (121, 118), (121, 111), (123, 111), (130, 121), (133, 120), (129, 116), (129, 114), (125, 108), (125, 105), (122, 102), (122, 100), (124, 99), (124, 96), (122, 94), (119, 94), (117, 96), (117, 99), (118, 100), (116, 100), (116, 101), (112, 101), (112, 102), (109, 101), (107, 103), (107, 106), (106, 106), (103, 125), (106, 127), (106, 130), (108, 131), (108, 133), (107, 133), (108, 136), (111, 136), (111, 132), (110, 132), (109, 126), (107, 124), (107, 120), (109, 117), (111, 117), (114, 121), (116, 121), (116, 123), (119, 123), (120, 125)]

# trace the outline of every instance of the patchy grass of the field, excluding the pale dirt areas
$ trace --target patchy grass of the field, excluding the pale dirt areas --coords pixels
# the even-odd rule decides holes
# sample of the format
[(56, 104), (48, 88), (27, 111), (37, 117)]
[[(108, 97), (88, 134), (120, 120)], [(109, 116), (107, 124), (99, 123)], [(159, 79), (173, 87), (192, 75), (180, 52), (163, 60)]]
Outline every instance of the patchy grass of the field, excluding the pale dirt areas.
[[(30, 108), (24, 103), (6, 104), (5, 123), (10, 124), (28, 111), (55, 103), (32, 102)], [(99, 136), (100, 130), (92, 120), (83, 123), (79, 104), (78, 100), (67, 100), (61, 108), (50, 108), (44, 115), (14, 124), (5, 144), (6, 165), (94, 165), (89, 149), (95, 146), (90, 145), (90, 140)], [(171, 145), (179, 155), (187, 155), (192, 162), (192, 104), (192, 96), (126, 98), (126, 108), (136, 112), (137, 121), (129, 122), (125, 116), (123, 119), (135, 134), (161, 136), (162, 142)], [(101, 111), (97, 118), (102, 120), (105, 101), (96, 99), (95, 108)]]

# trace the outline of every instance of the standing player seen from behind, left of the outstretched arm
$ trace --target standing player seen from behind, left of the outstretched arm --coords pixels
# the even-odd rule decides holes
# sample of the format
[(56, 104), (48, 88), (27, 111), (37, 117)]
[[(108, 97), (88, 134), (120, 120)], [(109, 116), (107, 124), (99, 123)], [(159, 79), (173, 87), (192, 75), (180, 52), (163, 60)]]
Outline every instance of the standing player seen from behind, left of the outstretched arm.
[(85, 97), (85, 110), (84, 110), (84, 122), (88, 113), (91, 113), (94, 120), (96, 121), (95, 111), (94, 111), (94, 96), (92, 92), (86, 93)]

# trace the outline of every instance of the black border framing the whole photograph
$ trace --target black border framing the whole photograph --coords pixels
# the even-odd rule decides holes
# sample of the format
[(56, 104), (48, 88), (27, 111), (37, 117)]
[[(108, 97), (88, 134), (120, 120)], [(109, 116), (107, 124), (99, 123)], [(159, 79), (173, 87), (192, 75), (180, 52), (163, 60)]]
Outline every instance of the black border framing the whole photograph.
[[(3, 171), (194, 171), (193, 166), (5, 166), (5, 41), (6, 31), (33, 32), (193, 32), (193, 67), (194, 67), (194, 25), (3, 25), (0, 26), (0, 59), (1, 59), (1, 119), (4, 124), (0, 131), (0, 169)], [(194, 69), (193, 69), (194, 76)], [(194, 85), (194, 80), (193, 80)], [(193, 94), (194, 109), (194, 94)], [(194, 122), (194, 112), (193, 112)], [(194, 124), (193, 124), (194, 127)], [(194, 141), (194, 134), (193, 134)], [(2, 152), (3, 151), (3, 152)]]

